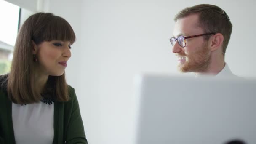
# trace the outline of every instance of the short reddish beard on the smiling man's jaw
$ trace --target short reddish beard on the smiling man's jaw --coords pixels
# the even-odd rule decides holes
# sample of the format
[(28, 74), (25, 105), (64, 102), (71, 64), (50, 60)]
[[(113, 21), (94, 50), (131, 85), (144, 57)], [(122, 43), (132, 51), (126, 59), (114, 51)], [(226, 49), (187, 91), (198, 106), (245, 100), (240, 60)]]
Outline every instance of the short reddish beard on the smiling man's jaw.
[(183, 53), (179, 54), (179, 56), (186, 56), (186, 61), (178, 65), (178, 69), (181, 72), (205, 72), (211, 63), (211, 53), (207, 43), (195, 53), (189, 55)]

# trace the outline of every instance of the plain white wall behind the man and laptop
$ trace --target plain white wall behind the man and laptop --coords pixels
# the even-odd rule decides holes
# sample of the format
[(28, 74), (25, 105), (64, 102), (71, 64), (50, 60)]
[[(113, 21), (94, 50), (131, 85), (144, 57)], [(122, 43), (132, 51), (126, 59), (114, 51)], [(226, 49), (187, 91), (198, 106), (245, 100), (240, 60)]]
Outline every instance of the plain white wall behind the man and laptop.
[(92, 144), (132, 143), (133, 77), (141, 72), (178, 74), (169, 43), (173, 17), (182, 8), (200, 3), (219, 5), (227, 12), (234, 29), (226, 61), (235, 74), (256, 77), (254, 1), (83, 1), (78, 91), (85, 96), (83, 115), (90, 123), (87, 130)]

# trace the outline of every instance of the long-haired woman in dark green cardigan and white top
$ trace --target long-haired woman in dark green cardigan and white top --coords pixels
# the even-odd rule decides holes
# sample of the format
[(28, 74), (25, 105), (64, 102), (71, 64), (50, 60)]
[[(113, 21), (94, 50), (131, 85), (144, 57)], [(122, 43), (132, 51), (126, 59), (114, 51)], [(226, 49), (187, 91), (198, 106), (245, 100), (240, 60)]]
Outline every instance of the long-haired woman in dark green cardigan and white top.
[(87, 144), (65, 68), (75, 33), (51, 13), (30, 16), (19, 30), (11, 72), (0, 76), (0, 144)]

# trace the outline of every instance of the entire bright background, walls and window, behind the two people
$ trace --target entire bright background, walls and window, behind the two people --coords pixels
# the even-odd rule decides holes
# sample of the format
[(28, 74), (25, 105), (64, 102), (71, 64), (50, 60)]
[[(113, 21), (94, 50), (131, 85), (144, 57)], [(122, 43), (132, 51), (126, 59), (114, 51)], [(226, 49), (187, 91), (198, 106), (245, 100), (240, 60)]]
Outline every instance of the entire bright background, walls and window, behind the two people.
[(134, 77), (179, 75), (169, 42), (173, 18), (201, 3), (218, 5), (229, 15), (233, 31), (225, 60), (232, 72), (256, 77), (253, 0), (0, 0), (0, 74), (10, 69), (18, 29), (28, 16), (43, 11), (63, 17), (77, 36), (66, 75), (79, 99), (88, 142), (131, 144)]

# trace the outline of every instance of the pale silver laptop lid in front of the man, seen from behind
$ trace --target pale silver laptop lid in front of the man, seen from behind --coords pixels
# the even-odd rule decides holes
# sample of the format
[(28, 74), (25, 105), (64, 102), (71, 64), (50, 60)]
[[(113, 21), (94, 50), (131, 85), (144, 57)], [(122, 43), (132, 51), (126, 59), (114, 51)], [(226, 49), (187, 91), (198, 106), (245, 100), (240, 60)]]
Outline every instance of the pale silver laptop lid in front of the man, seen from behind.
[(256, 144), (256, 80), (168, 75), (137, 80), (136, 144)]

